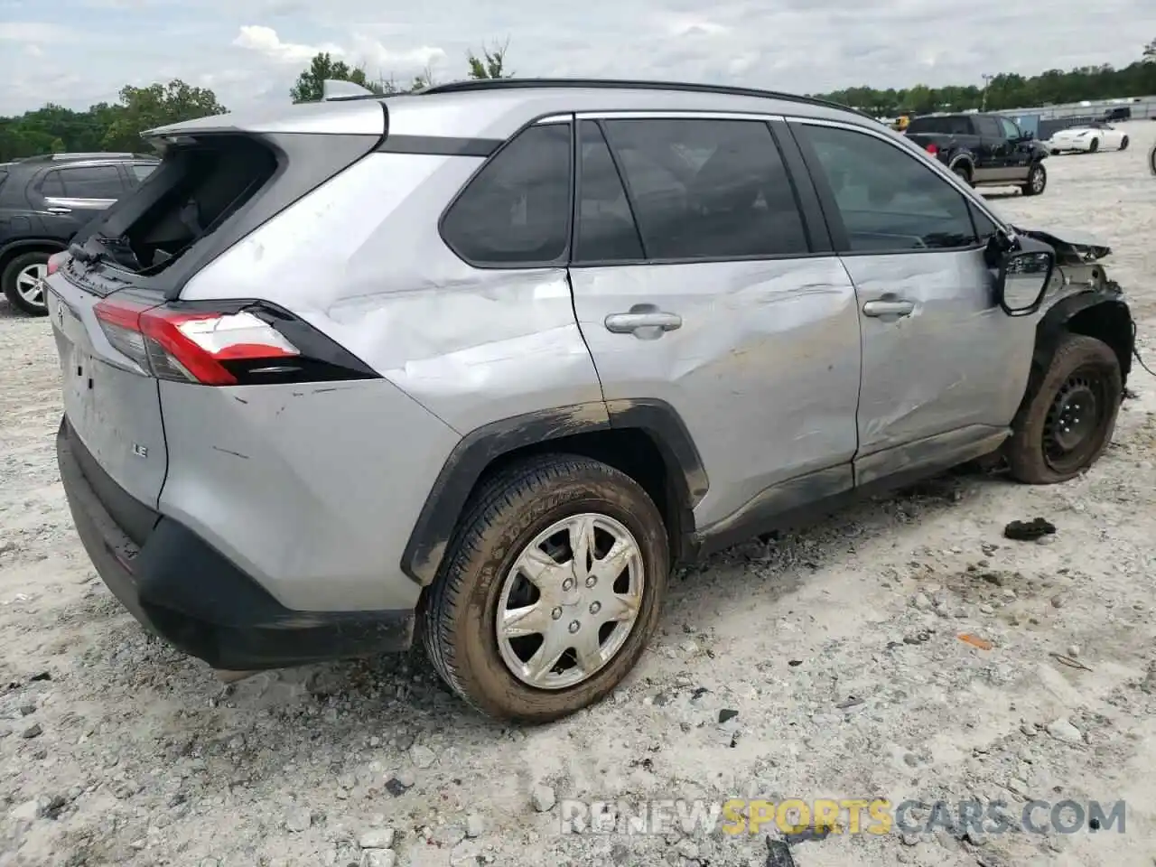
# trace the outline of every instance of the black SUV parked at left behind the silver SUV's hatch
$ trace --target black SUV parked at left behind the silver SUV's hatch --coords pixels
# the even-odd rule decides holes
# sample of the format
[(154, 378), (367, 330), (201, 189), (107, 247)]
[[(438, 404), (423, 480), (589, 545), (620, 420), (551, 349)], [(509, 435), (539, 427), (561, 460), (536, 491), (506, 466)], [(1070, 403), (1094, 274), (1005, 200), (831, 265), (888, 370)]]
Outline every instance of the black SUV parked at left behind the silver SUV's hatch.
[(0, 164), (0, 288), (32, 316), (49, 312), (49, 258), (160, 164), (139, 154), (49, 154)]

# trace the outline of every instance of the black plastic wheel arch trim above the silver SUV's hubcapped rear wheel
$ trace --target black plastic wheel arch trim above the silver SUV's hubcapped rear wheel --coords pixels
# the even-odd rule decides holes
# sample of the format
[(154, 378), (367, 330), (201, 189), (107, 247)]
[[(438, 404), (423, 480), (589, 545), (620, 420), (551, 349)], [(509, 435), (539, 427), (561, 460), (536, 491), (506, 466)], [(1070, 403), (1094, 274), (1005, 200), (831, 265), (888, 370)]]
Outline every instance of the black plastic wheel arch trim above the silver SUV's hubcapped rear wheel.
[(477, 480), (497, 460), (527, 446), (580, 433), (639, 430), (659, 450), (679, 507), (677, 535), (694, 533), (694, 509), (706, 495), (698, 449), (677, 410), (664, 400), (610, 400), (525, 413), (467, 433), (446, 458), (401, 555), (401, 570), (422, 586), (432, 583)]

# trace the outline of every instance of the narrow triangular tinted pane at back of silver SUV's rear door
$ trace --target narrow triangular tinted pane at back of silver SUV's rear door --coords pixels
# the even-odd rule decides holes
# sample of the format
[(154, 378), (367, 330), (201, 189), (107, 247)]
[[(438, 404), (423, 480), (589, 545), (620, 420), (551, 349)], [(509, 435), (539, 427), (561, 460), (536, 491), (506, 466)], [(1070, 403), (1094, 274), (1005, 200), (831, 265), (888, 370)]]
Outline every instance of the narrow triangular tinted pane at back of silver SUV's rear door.
[(584, 120), (578, 134), (581, 169), (575, 259), (585, 262), (642, 259), (635, 216), (602, 131), (594, 121)]

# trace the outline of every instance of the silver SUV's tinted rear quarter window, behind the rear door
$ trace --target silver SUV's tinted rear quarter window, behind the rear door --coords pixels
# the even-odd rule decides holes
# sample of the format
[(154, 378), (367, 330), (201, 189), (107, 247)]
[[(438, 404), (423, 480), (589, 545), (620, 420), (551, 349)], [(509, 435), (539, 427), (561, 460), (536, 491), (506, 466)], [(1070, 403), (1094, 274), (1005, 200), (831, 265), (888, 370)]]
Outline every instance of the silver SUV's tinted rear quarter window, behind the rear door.
[(570, 240), (570, 126), (533, 126), (502, 148), (450, 206), (442, 237), (477, 265), (561, 259)]

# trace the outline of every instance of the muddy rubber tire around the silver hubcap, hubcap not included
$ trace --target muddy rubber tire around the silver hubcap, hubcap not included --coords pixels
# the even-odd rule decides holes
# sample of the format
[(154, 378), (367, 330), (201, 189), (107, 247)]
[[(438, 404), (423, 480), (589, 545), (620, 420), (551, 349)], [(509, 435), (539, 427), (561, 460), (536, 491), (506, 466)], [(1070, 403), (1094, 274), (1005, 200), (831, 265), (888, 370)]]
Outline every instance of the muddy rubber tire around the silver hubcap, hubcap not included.
[[(624, 643), (601, 668), (570, 687), (535, 688), (514, 676), (498, 646), (503, 585), (540, 534), (568, 517), (591, 513), (625, 527), (637, 542), (642, 601)], [(568, 454), (511, 465), (470, 498), (427, 591), (421, 613), (425, 650), (443, 680), (488, 716), (525, 722), (565, 717), (606, 696), (638, 661), (658, 627), (668, 551), (659, 510), (624, 473)]]

